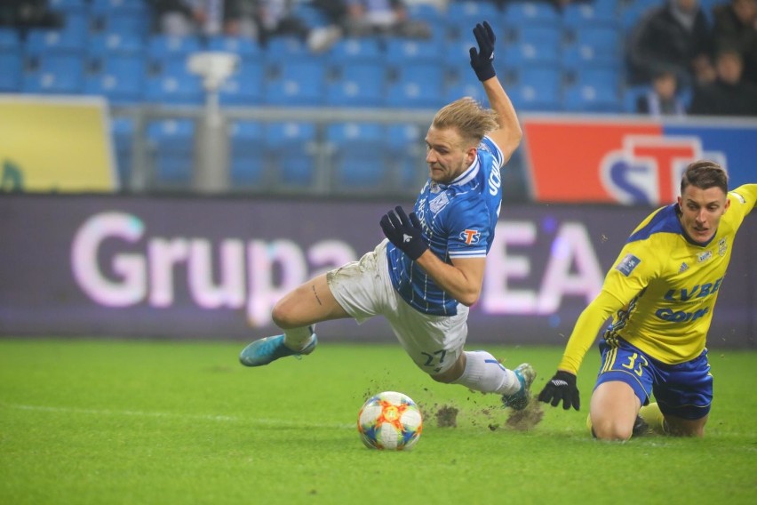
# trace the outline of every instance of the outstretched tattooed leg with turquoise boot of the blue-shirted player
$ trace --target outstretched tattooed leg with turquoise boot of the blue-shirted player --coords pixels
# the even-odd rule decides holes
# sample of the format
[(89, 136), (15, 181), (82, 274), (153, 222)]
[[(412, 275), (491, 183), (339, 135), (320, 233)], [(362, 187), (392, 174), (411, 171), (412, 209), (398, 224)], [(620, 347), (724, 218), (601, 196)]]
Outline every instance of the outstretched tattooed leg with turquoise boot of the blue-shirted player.
[(300, 357), (313, 352), (318, 338), (315, 323), (349, 317), (331, 294), (326, 275), (300, 285), (276, 303), (272, 318), (283, 334), (252, 342), (239, 355), (245, 366), (263, 366), (281, 357)]

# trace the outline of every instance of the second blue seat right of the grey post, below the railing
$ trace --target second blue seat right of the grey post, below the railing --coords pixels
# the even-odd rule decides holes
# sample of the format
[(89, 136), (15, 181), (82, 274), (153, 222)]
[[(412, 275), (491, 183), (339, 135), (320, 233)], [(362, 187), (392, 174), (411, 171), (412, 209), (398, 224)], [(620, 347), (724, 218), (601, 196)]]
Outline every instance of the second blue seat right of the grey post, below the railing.
[(272, 160), (278, 182), (288, 188), (315, 186), (315, 124), (267, 124), (266, 156)]

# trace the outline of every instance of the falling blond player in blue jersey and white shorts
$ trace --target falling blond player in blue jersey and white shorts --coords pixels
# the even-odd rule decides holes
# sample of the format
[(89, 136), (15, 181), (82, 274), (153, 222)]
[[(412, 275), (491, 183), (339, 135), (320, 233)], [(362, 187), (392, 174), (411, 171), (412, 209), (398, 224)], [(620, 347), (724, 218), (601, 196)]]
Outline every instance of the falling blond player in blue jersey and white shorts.
[(466, 351), (468, 308), (478, 300), (497, 224), (500, 168), (521, 142), (513, 104), (492, 65), (489, 23), (473, 30), (470, 64), (490, 103), (471, 98), (441, 108), (426, 133), (429, 178), (412, 212), (396, 207), (380, 219), (386, 235), (373, 252), (300, 285), (276, 303), (282, 335), (254, 341), (240, 354), (247, 366), (313, 352), (313, 325), (384, 316), (407, 354), (434, 381), (502, 396), (522, 410), (536, 373), (509, 370), (485, 351)]

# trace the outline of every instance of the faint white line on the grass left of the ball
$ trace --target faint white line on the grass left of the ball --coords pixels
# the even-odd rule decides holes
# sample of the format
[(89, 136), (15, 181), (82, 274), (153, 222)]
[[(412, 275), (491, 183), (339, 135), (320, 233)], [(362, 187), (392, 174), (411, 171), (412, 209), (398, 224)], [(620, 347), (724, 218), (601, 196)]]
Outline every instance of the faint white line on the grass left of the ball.
[(78, 407), (53, 407), (46, 405), (19, 405), (0, 403), (0, 408), (12, 408), (16, 410), (26, 410), (35, 412), (49, 413), (82, 413), (89, 415), (112, 415), (112, 416), (131, 416), (131, 417), (153, 417), (153, 418), (174, 418), (174, 419), (195, 419), (197, 421), (222, 421), (222, 422), (244, 422), (247, 424), (257, 424), (262, 426), (287, 426), (303, 428), (324, 428), (324, 429), (344, 429), (355, 428), (355, 424), (337, 424), (337, 423), (312, 423), (296, 420), (280, 420), (266, 418), (247, 418), (233, 415), (211, 415), (211, 414), (192, 414), (192, 413), (165, 413), (149, 411), (131, 411), (131, 410), (109, 410), (109, 409), (85, 409)]

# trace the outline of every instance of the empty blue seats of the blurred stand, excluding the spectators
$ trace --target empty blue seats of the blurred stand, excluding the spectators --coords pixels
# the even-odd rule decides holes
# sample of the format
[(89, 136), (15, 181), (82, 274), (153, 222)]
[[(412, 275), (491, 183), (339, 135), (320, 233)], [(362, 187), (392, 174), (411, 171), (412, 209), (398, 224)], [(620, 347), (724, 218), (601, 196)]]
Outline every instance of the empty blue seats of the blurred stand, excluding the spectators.
[[(715, 3), (701, 0), (708, 14)], [(199, 108), (205, 104), (205, 94), (199, 77), (187, 71), (187, 55), (221, 51), (240, 57), (237, 72), (219, 90), (222, 107), (434, 109), (463, 95), (485, 98), (466, 59), (474, 44), (471, 27), (490, 20), (505, 41), (495, 61), (498, 74), (523, 112), (633, 112), (640, 90), (626, 83), (625, 37), (657, 4), (659, 0), (591, 0), (557, 10), (547, 2), (530, 0), (414, 1), (408, 2), (410, 17), (432, 28), (430, 39), (342, 38), (327, 51), (314, 53), (296, 37), (276, 36), (261, 46), (241, 36), (155, 33), (147, 0), (50, 0), (50, 8), (62, 21), (60, 27), (0, 28), (0, 92), (94, 94), (115, 107)], [(329, 23), (308, 0), (299, 0), (295, 12), (311, 28)], [(187, 141), (186, 134), (179, 135), (186, 133), (187, 126), (171, 121), (176, 123), (172, 127), (153, 126), (149, 141), (158, 161), (157, 179), (177, 182), (187, 180), (178, 168), (186, 159), (170, 162), (164, 153), (179, 150), (163, 151), (158, 143), (175, 143), (178, 137)], [(335, 120), (334, 124), (350, 123)], [(248, 140), (252, 133), (260, 134), (267, 142), (272, 141), (270, 132), (284, 134), (291, 140), (285, 143), (287, 148), (267, 148), (267, 156), (282, 164), (281, 178), (293, 187), (314, 184), (317, 145), (323, 142), (317, 129), (307, 123), (273, 125), (262, 130), (240, 126), (235, 132)], [(176, 134), (158, 134), (166, 128)], [(394, 130), (403, 131), (398, 127), (387, 132)], [(125, 123), (114, 122), (114, 139), (122, 139), (126, 131)], [(289, 137), (290, 132), (299, 133)], [(403, 138), (401, 133), (390, 137)], [(293, 150), (294, 144), (309, 148)], [(129, 162), (120, 143), (116, 151), (119, 166)], [(346, 159), (357, 163), (358, 156), (350, 158), (352, 154), (335, 151), (342, 164)], [(412, 156), (400, 158), (404, 160), (400, 164), (410, 166)], [(380, 185), (383, 182), (371, 180), (372, 169), (366, 168), (371, 163), (373, 159), (363, 159), (362, 168), (354, 171), (342, 166), (335, 170), (334, 180), (355, 187)], [(235, 180), (251, 184), (258, 180), (254, 174), (262, 168), (244, 166), (233, 168), (239, 175)], [(397, 169), (397, 177), (406, 180), (402, 170)]]

